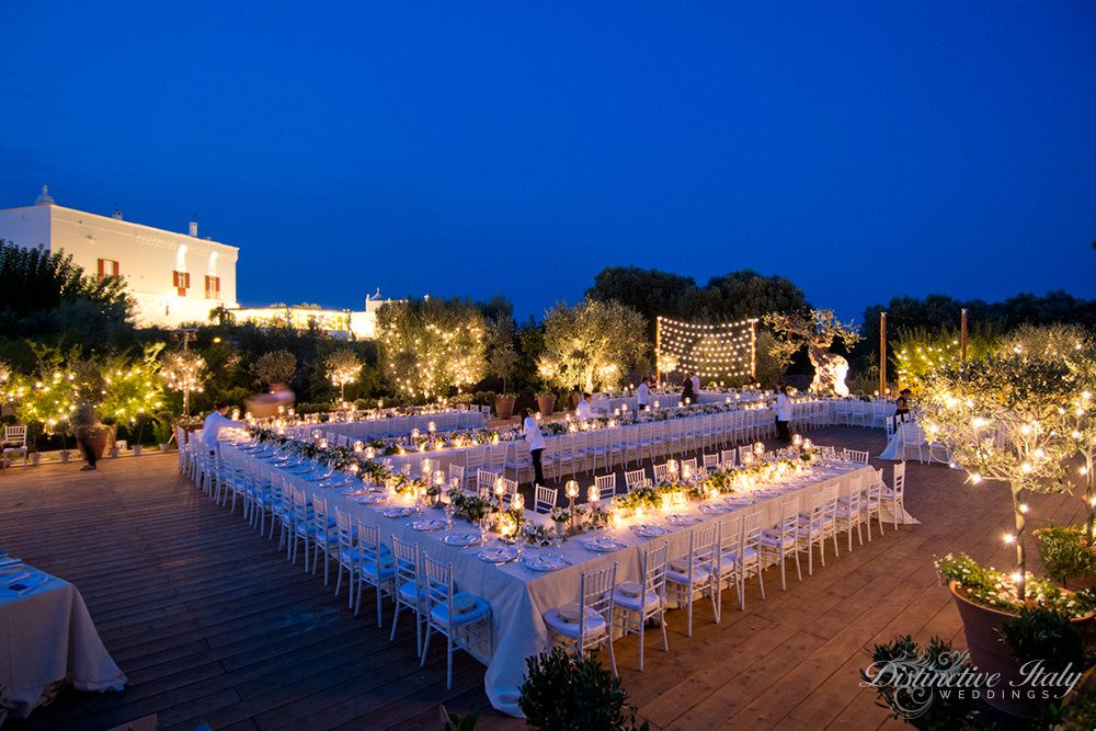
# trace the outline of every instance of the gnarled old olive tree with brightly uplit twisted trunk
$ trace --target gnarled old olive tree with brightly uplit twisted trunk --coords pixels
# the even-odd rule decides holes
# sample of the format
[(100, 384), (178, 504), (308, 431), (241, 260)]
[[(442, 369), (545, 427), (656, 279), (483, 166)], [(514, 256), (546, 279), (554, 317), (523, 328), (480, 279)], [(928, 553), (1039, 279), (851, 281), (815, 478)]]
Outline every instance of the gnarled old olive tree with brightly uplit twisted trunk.
[(764, 317), (765, 324), (779, 338), (769, 350), (778, 361), (788, 359), (807, 346), (807, 355), (814, 366), (811, 390), (820, 393), (847, 396), (844, 375), (848, 373), (848, 361), (830, 352), (835, 340), (846, 349), (855, 345), (860, 335), (853, 323), (845, 324), (833, 310), (810, 310), (810, 312), (784, 315), (770, 312)]

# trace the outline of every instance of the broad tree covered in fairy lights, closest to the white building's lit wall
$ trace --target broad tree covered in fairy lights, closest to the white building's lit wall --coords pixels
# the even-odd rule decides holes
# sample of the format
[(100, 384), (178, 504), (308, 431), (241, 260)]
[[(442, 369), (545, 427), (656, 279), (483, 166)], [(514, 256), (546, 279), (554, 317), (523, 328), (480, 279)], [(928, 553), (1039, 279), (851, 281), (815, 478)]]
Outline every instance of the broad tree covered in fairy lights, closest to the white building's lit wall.
[(386, 378), (411, 399), (447, 396), (487, 370), (487, 322), (467, 300), (386, 302), (377, 310), (377, 336)]

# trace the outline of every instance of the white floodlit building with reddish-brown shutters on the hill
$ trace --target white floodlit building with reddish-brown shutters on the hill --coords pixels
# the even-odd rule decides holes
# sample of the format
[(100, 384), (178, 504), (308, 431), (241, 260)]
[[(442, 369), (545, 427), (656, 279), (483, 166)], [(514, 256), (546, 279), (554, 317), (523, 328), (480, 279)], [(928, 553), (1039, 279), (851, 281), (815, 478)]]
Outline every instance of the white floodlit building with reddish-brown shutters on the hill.
[(207, 322), (218, 306), (236, 308), (240, 250), (208, 238), (165, 231), (54, 203), (47, 186), (33, 206), (0, 210), (0, 239), (27, 249), (64, 251), (84, 272), (117, 274), (137, 301), (137, 322), (175, 327)]

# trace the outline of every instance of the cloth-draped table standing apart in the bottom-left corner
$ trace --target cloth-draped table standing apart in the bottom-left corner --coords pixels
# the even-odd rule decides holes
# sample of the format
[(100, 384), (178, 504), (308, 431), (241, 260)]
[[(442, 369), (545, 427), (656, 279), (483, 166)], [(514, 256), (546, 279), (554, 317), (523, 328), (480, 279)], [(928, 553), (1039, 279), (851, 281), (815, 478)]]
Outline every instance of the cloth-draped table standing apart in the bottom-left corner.
[(65, 682), (98, 692), (127, 681), (76, 586), (0, 557), (0, 723), (26, 718)]

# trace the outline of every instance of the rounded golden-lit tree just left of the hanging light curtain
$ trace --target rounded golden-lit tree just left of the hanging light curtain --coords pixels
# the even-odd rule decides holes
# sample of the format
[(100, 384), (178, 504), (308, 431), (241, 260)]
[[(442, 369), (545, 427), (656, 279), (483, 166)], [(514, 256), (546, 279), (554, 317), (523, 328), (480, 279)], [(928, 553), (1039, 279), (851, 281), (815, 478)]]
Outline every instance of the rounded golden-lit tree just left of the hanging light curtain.
[(540, 376), (564, 388), (614, 388), (643, 358), (646, 329), (642, 315), (616, 301), (557, 305), (544, 320)]

